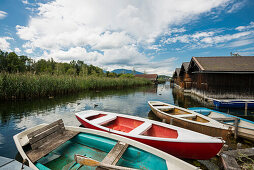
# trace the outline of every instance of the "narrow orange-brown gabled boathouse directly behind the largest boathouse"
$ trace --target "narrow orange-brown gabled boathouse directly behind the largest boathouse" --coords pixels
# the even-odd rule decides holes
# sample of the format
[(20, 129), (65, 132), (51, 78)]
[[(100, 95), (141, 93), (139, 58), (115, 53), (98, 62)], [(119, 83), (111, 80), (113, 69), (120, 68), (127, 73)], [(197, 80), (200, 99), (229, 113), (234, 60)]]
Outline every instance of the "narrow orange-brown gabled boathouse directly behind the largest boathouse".
[(189, 62), (182, 63), (182, 66), (180, 68), (179, 72), (179, 78), (180, 78), (180, 87), (183, 89), (190, 89), (191, 88), (191, 77), (188, 74), (188, 67)]

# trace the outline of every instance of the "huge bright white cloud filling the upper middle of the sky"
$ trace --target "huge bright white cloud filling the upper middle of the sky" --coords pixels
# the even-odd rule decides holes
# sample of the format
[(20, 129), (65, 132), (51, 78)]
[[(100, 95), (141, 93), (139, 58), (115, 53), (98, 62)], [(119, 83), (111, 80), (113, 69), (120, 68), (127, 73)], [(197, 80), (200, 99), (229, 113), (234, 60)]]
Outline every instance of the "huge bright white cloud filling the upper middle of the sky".
[[(27, 41), (23, 47), (39, 48), (45, 58), (133, 67), (150, 61), (140, 49), (157, 50), (153, 46), (156, 38), (185, 32), (175, 27), (228, 1), (55, 0), (38, 4), (37, 15), (31, 16), (28, 25), (17, 25), (16, 29), (17, 35)], [(192, 39), (204, 36), (197, 34)], [(188, 42), (189, 37), (174, 41)]]

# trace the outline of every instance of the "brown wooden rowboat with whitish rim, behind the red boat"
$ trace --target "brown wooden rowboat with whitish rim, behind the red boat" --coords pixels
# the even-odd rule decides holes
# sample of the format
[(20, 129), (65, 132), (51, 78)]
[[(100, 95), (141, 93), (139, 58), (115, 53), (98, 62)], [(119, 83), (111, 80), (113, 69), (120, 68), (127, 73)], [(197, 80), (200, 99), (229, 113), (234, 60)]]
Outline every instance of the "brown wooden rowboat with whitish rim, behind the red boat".
[(149, 101), (148, 104), (153, 113), (166, 123), (209, 136), (222, 137), (224, 140), (232, 133), (228, 125), (197, 112), (160, 101)]

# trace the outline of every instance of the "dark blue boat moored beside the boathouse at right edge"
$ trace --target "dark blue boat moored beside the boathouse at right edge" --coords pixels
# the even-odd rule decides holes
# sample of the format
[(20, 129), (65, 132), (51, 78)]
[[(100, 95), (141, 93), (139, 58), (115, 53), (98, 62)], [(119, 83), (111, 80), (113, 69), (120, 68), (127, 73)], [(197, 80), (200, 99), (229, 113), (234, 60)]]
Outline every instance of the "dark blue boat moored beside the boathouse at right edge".
[(216, 107), (254, 108), (254, 100), (248, 99), (213, 99), (213, 104)]

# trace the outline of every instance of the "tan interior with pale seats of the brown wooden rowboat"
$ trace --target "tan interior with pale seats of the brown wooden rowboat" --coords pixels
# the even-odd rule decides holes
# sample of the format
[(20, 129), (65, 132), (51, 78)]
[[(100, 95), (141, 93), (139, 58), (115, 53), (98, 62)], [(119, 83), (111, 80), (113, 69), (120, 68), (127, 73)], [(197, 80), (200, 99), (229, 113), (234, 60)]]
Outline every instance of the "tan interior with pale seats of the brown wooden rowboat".
[(209, 122), (207, 119), (204, 119), (196, 114), (192, 114), (191, 112), (187, 112), (187, 111), (172, 107), (167, 104), (163, 104), (163, 103), (151, 103), (151, 104), (153, 105), (154, 108), (156, 108), (162, 112), (165, 112), (167, 114), (170, 114), (172, 116), (175, 116), (175, 117), (193, 120), (193, 121), (202, 122), (202, 123)]

